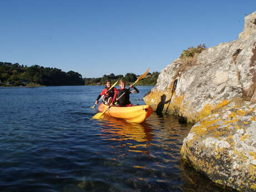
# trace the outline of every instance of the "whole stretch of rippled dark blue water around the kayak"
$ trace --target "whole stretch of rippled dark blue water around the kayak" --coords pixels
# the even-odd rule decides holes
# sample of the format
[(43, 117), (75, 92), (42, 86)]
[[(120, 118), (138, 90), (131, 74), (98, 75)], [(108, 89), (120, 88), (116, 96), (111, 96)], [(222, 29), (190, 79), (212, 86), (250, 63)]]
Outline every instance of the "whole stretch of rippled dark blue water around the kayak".
[(180, 161), (191, 125), (92, 120), (102, 88), (0, 88), (0, 191), (223, 191)]

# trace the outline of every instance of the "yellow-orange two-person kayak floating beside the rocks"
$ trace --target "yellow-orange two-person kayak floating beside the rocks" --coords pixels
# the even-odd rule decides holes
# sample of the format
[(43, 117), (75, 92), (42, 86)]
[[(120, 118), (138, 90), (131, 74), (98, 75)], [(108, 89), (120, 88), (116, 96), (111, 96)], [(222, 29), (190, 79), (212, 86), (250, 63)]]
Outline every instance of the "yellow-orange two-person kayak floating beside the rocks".
[[(104, 112), (108, 105), (100, 104), (98, 110)], [(147, 119), (152, 114), (153, 110), (149, 105), (138, 105), (131, 107), (110, 107), (109, 110), (105, 112), (104, 115), (109, 115), (111, 117), (116, 117), (120, 119), (125, 119), (131, 122), (141, 123)]]

